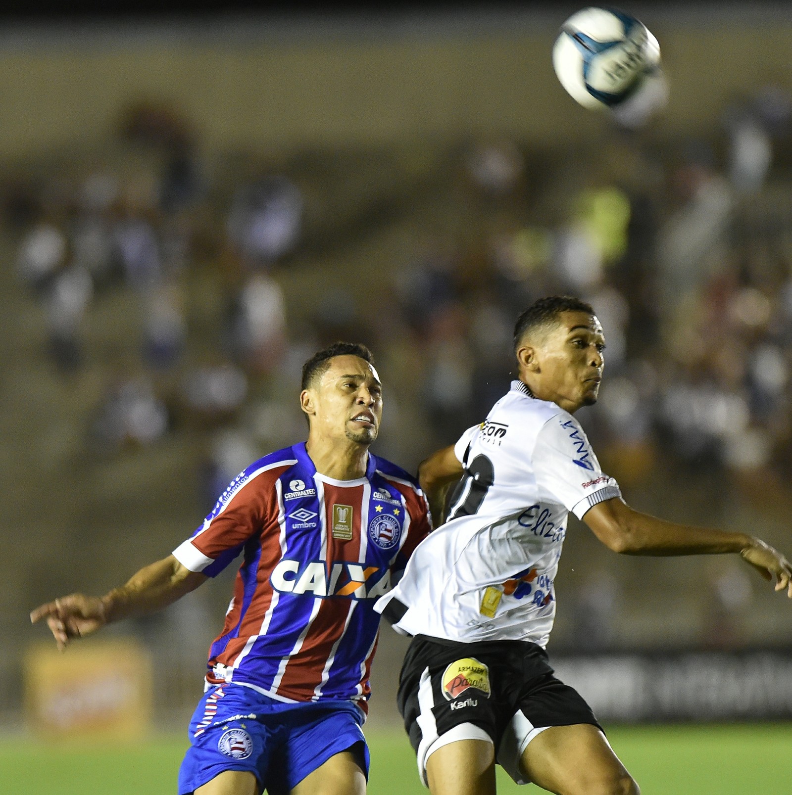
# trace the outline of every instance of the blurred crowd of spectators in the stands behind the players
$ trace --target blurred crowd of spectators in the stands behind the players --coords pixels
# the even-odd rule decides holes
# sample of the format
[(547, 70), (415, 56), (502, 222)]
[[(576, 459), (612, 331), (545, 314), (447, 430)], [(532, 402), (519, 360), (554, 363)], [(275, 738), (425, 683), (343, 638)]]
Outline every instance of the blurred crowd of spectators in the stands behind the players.
[[(345, 337), (373, 349), (390, 401), (381, 452), (414, 467), (508, 389), (514, 319), (551, 293), (590, 301), (604, 326), (601, 399), (580, 419), (623, 485), (674, 471), (767, 485), (792, 454), (792, 198), (788, 183), (774, 192), (790, 125), (790, 95), (767, 87), (706, 140), (661, 145), (614, 127), (574, 152), (502, 140), (435, 152), (445, 170), (385, 219), (404, 227), (406, 256), (383, 246), (382, 259), (347, 270), (355, 235), (374, 234), (364, 208), (292, 304), (283, 279), (299, 283), (310, 190), (288, 161), (223, 176), (157, 105), (130, 108), (116, 144), (145, 150), (156, 169), (19, 177), (5, 186), (6, 224), (20, 288), (45, 309), (42, 351), (64, 378), (91, 365), (95, 306), (134, 296), (139, 336), (103, 363), (86, 444), (120, 455), (205, 433), (204, 507), (250, 460), (302, 438), (299, 368), (317, 346)], [(196, 272), (212, 274), (218, 310), (205, 317)], [(609, 583), (600, 576), (591, 610), (580, 607), (600, 642)], [(744, 591), (732, 578), (724, 604)]]

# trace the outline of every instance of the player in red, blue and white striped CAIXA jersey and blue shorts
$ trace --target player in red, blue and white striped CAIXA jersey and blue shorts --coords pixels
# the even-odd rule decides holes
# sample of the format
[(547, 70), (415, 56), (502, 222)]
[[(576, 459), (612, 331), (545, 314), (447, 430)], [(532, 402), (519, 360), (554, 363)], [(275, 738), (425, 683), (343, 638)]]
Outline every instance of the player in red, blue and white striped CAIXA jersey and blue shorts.
[(308, 441), (247, 467), (191, 538), (102, 597), (42, 605), (62, 649), (175, 602), (242, 556), (209, 650), (179, 793), (359, 795), (375, 600), (429, 533), (416, 481), (368, 452), (382, 417), (371, 353), (336, 343), (303, 367)]

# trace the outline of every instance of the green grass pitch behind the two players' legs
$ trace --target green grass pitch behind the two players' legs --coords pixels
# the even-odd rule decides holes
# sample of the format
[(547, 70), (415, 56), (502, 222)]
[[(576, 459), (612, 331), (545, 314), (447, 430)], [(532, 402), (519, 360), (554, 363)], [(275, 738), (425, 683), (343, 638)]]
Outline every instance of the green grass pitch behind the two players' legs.
[[(792, 795), (792, 724), (615, 727), (608, 736), (643, 795)], [(371, 732), (369, 795), (424, 795), (406, 738)], [(185, 740), (157, 736), (139, 747), (46, 746), (0, 739), (2, 795), (174, 795)], [(499, 770), (499, 793), (517, 787)]]

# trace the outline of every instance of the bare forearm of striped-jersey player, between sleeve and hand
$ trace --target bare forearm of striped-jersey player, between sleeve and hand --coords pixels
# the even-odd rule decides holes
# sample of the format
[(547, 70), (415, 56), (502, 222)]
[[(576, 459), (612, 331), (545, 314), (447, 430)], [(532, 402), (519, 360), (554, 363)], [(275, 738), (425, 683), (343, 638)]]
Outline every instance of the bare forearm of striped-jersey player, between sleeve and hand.
[(102, 597), (107, 623), (168, 607), (206, 578), (184, 568), (173, 555), (144, 566), (121, 588)]

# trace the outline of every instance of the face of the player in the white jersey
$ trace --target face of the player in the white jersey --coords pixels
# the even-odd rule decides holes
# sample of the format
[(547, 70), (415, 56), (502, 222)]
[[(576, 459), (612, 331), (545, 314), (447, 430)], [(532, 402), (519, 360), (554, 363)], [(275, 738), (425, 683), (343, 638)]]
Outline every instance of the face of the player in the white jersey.
[(534, 347), (535, 377), (542, 393), (537, 397), (553, 401), (569, 412), (596, 403), (604, 350), (605, 338), (596, 316), (561, 312), (557, 324)]

